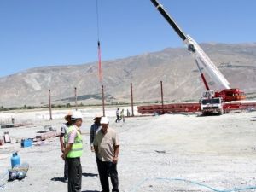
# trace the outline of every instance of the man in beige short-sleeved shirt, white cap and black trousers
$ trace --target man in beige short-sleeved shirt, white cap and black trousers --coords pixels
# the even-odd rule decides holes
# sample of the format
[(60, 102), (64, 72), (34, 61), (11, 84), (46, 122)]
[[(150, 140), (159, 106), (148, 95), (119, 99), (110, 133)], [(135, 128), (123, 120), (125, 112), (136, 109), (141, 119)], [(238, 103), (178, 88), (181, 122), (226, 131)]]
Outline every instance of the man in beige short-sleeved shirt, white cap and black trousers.
[(94, 139), (94, 148), (102, 192), (109, 192), (108, 175), (113, 185), (112, 191), (119, 192), (119, 177), (117, 172), (119, 137), (116, 131), (108, 127), (108, 118), (102, 117), (101, 124), (102, 129), (96, 133)]

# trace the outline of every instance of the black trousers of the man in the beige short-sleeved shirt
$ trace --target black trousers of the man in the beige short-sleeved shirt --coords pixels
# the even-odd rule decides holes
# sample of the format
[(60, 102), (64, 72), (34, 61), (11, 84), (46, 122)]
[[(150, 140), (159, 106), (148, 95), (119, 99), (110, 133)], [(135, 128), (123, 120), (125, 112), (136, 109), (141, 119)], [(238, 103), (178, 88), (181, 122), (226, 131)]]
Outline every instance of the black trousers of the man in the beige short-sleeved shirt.
[(102, 184), (102, 192), (109, 192), (108, 175), (113, 186), (112, 192), (119, 192), (119, 177), (116, 168), (117, 164), (114, 164), (113, 162), (103, 162), (98, 158), (96, 161)]

